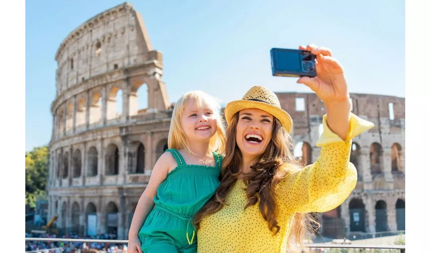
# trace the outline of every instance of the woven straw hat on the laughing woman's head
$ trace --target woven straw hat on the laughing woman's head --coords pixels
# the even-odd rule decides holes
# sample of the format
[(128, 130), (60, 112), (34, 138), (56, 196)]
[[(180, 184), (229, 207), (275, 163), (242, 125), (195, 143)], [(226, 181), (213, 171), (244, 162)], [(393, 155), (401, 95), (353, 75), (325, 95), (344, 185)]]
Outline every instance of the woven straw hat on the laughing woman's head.
[(281, 122), (288, 134), (291, 133), (292, 119), (290, 115), (281, 109), (281, 104), (275, 93), (263, 86), (254, 86), (241, 100), (232, 101), (227, 104), (224, 111), (227, 123), (231, 123), (236, 112), (251, 108), (260, 109), (272, 114)]

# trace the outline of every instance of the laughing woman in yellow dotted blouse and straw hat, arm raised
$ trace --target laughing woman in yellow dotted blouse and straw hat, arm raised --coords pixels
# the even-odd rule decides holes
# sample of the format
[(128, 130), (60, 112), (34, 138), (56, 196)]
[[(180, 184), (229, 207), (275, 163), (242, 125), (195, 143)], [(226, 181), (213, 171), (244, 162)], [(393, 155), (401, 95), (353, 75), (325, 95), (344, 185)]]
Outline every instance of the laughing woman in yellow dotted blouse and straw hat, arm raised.
[(300, 167), (291, 153), (291, 117), (270, 90), (253, 87), (229, 103), (221, 185), (194, 219), (199, 253), (300, 252), (306, 214), (337, 207), (355, 188), (352, 139), (373, 124), (350, 113), (347, 81), (330, 50), (300, 49), (317, 55), (317, 76), (297, 82), (310, 87), (327, 110), (317, 142), (321, 154)]

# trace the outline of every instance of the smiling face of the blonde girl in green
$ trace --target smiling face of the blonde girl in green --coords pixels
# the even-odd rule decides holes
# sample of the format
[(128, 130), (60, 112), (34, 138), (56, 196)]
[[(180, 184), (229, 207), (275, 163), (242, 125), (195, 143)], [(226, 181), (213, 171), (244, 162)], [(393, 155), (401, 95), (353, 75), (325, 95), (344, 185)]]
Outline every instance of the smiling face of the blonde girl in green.
[(189, 141), (206, 142), (217, 132), (217, 118), (207, 105), (197, 106), (194, 100), (185, 105), (181, 124)]

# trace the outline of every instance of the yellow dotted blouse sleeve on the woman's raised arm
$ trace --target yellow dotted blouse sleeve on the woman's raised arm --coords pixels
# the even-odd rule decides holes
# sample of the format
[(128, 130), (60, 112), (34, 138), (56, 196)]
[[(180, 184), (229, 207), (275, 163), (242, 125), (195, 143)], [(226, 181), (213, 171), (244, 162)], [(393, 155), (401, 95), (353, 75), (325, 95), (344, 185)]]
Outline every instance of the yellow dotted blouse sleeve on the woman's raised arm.
[(345, 201), (357, 183), (357, 170), (349, 161), (352, 139), (373, 127), (373, 123), (351, 113), (346, 141), (331, 132), (323, 117), (324, 131), (317, 146), (321, 153), (315, 163), (291, 169), (276, 188), (280, 208), (297, 213), (323, 213)]

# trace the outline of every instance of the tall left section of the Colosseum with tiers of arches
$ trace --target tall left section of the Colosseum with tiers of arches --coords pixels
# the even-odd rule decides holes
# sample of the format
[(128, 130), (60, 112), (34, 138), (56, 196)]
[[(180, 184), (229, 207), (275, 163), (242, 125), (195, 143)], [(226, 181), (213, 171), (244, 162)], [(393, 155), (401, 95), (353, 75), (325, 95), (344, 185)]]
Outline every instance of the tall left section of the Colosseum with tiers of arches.
[[(166, 148), (171, 109), (162, 54), (152, 49), (141, 15), (125, 3), (72, 31), (55, 58), (49, 217), (57, 214), (59, 228), (85, 233), (87, 214), (95, 213), (97, 233), (104, 233), (107, 215), (117, 213), (124, 238), (128, 214)], [(148, 108), (138, 110), (144, 85)]]

